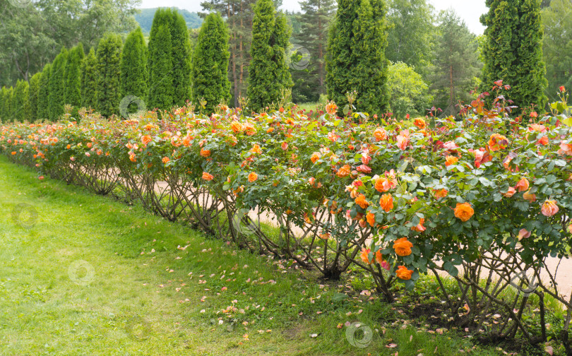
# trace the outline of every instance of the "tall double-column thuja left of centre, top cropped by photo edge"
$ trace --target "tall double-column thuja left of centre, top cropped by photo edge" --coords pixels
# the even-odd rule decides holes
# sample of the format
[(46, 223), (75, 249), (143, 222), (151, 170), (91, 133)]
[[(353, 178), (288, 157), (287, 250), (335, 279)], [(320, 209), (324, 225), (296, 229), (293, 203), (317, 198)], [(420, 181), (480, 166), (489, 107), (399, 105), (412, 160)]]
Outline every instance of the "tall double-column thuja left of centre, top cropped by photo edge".
[(285, 90), (292, 88), (285, 49), (290, 28), (283, 15), (275, 17), (272, 0), (258, 0), (254, 6), (252, 23), (251, 63), (249, 66), (249, 105), (261, 111), (271, 103), (278, 103)]

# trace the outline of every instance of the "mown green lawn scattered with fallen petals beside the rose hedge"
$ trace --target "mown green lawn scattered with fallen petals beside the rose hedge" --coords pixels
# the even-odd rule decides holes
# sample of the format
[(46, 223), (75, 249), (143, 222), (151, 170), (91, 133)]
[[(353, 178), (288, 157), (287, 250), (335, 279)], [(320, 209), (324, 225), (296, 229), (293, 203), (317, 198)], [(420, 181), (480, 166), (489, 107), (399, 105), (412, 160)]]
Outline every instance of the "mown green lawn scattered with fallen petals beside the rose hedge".
[[(0, 201), (2, 356), (427, 356), (472, 348), (454, 333), (418, 330), (369, 297), (334, 302), (338, 283), (234, 251), (138, 206), (40, 181), (3, 156)], [(352, 338), (344, 324), (354, 321), (372, 331), (370, 343), (364, 328)]]

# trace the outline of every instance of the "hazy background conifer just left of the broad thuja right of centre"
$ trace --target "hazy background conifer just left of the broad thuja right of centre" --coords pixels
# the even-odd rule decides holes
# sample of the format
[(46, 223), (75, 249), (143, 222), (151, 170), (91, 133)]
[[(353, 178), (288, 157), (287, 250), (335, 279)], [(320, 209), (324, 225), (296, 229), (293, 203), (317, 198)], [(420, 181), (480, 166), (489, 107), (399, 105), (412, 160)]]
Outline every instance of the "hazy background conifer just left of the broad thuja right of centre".
[[(326, 47), (328, 28), (335, 14), (334, 0), (303, 0), (300, 2), (300, 30), (292, 35), (297, 55), (292, 59), (292, 100), (316, 102), (326, 93)], [(299, 46), (299, 47), (297, 47)], [(299, 49), (299, 50), (297, 50)], [(304, 58), (306, 56), (306, 58)]]

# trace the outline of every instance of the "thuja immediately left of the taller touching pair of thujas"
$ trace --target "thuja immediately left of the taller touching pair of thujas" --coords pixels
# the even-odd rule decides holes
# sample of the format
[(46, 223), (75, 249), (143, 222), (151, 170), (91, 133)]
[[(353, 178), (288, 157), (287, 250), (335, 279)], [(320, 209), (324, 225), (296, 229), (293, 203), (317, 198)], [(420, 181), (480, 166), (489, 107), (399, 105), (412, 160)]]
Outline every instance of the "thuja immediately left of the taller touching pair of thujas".
[[(133, 95), (145, 101), (148, 95), (148, 75), (147, 47), (141, 28), (136, 28), (127, 36), (121, 54), (121, 98)], [(136, 108), (128, 109), (133, 112)]]

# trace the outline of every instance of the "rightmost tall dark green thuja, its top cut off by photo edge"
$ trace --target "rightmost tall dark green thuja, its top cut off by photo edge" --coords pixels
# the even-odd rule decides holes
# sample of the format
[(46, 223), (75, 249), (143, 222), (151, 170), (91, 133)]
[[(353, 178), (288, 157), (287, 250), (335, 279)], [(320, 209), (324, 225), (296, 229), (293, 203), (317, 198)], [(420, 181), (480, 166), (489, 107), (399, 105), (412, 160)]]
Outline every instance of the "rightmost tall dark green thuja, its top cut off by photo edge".
[(488, 91), (502, 80), (512, 87), (503, 94), (513, 105), (543, 108), (547, 81), (540, 0), (487, 0), (487, 6), (489, 12), (481, 18), (487, 26), (481, 90)]

